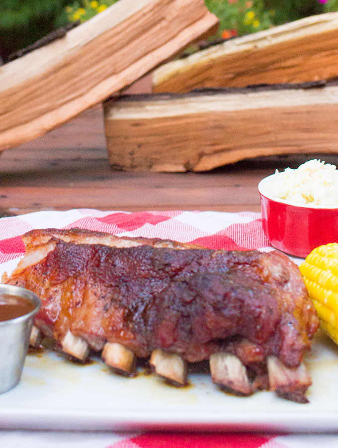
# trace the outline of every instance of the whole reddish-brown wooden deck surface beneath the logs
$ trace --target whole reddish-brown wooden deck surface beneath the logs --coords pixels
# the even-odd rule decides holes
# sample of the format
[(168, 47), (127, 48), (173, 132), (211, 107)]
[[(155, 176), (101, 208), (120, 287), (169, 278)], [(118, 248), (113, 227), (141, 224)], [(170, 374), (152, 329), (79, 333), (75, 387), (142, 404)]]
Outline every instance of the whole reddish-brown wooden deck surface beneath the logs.
[(205, 173), (113, 171), (101, 107), (0, 156), (2, 216), (39, 210), (260, 211), (258, 182), (276, 168), (310, 158), (338, 163), (338, 155), (264, 157)]

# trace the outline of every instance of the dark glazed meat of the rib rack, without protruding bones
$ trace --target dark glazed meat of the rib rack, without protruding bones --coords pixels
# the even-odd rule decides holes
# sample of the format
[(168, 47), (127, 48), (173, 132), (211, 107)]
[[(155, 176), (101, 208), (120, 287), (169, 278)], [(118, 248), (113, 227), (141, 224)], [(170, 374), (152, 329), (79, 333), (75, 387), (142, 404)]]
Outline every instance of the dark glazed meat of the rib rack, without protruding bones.
[(246, 365), (275, 355), (296, 367), (318, 328), (299, 270), (283, 254), (116, 248), (55, 236), (30, 240), (49, 244), (47, 255), (7, 283), (39, 294), (37, 326), (58, 341), (71, 331), (96, 350), (117, 342), (139, 357), (161, 348), (193, 362), (225, 349)]

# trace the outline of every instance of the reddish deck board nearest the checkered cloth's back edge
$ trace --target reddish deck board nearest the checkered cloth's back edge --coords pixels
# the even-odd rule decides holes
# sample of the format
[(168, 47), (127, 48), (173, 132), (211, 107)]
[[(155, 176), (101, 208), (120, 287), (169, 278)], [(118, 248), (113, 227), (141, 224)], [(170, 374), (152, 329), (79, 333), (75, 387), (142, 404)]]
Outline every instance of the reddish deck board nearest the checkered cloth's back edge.
[[(92, 187), (2, 187), (1, 208), (11, 213), (27, 210), (67, 210), (69, 208), (94, 208), (100, 210), (214, 210), (224, 206), (224, 196), (231, 200), (228, 206), (242, 207), (259, 204), (258, 193), (250, 187), (241, 189), (214, 187), (191, 188), (184, 195), (179, 188), (130, 188), (115, 189)], [(14, 205), (15, 204), (15, 205)], [(70, 204), (72, 206), (70, 207)], [(259, 208), (259, 207), (258, 207)]]

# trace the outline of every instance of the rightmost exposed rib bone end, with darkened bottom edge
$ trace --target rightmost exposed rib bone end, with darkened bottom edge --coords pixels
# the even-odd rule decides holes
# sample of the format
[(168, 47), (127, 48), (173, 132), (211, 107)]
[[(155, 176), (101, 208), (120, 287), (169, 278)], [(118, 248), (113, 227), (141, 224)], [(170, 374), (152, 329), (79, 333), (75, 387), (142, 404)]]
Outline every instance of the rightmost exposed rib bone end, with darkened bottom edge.
[(308, 369), (302, 362), (296, 368), (286, 367), (275, 356), (267, 358), (270, 389), (277, 395), (298, 403), (308, 403), (305, 392), (312, 381)]

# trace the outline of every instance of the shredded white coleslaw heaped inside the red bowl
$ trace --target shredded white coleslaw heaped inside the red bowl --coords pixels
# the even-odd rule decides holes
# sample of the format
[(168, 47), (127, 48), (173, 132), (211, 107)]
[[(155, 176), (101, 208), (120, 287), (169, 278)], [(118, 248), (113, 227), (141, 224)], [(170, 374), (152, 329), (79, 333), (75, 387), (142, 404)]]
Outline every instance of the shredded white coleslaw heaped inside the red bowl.
[(265, 189), (273, 199), (307, 206), (338, 207), (338, 170), (317, 159), (297, 169), (276, 170)]

